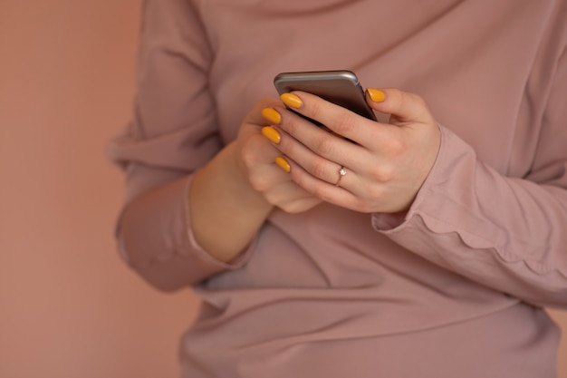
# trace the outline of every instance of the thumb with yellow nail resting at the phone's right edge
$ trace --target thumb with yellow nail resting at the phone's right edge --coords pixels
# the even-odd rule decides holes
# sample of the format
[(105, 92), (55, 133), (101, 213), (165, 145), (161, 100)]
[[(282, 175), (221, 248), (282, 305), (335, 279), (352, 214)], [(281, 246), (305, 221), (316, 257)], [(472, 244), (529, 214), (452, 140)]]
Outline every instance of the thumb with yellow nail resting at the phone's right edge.
[(430, 123), (433, 116), (428, 105), (418, 94), (403, 92), (396, 88), (368, 88), (366, 98), (376, 111), (391, 114), (393, 123)]

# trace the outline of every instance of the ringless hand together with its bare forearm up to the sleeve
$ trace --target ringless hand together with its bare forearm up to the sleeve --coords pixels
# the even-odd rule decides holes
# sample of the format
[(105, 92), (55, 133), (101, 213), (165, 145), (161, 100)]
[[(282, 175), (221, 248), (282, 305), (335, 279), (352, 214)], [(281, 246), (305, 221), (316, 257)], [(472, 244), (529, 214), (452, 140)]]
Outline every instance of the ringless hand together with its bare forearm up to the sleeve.
[(191, 183), (193, 235), (219, 261), (232, 261), (244, 252), (274, 207), (298, 213), (321, 202), (276, 165), (280, 152), (262, 134), (266, 124), (274, 124), (262, 110), (279, 103), (275, 99), (257, 102), (236, 140), (197, 170)]

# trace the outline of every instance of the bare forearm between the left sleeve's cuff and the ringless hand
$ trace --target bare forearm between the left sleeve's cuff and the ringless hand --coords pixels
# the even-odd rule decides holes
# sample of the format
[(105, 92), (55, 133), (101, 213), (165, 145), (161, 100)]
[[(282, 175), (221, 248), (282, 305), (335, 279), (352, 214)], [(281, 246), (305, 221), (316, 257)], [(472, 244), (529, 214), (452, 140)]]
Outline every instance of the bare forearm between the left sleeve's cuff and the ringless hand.
[(218, 153), (196, 173), (189, 191), (193, 235), (222, 262), (245, 250), (273, 208), (242, 174), (235, 153), (235, 143)]

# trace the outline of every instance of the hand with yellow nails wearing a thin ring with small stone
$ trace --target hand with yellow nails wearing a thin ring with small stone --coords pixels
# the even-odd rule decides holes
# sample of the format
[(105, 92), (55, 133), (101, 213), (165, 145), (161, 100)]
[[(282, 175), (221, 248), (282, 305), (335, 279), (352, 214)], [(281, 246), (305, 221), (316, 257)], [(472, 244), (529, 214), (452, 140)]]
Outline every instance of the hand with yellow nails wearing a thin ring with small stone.
[(289, 162), (294, 182), (324, 201), (360, 212), (409, 208), (440, 145), (437, 122), (418, 95), (369, 89), (367, 102), (389, 113), (389, 123), (370, 121), (306, 92), (284, 93), (282, 100), (346, 138), (284, 107), (275, 108), (281, 114), (272, 126), (281, 134), (276, 146)]

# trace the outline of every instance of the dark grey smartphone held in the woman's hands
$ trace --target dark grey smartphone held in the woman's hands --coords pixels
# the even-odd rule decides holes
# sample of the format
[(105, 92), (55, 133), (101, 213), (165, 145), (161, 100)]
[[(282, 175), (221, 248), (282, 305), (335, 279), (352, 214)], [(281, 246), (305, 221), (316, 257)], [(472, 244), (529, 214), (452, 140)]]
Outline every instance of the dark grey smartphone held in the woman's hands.
[(358, 77), (351, 71), (279, 73), (274, 78), (274, 86), (279, 94), (292, 91), (310, 92), (328, 102), (377, 121), (376, 114), (366, 102)]

